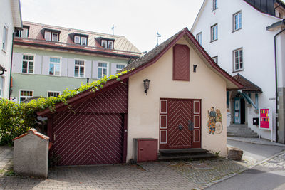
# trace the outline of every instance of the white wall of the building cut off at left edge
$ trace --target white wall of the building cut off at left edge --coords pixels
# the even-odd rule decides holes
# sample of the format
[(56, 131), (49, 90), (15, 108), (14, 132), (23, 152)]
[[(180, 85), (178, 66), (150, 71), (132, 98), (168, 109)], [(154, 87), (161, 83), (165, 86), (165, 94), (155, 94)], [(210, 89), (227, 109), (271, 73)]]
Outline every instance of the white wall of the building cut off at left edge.
[[(7, 46), (6, 51), (2, 51), (3, 43), (3, 28), (4, 25), (8, 28)], [(11, 68), (11, 46), (13, 40), (14, 23), (11, 11), (11, 1), (1, 0), (0, 6), (0, 65), (3, 66), (7, 72), (1, 77), (4, 77), (4, 96), (9, 98), (9, 85), (10, 85), (10, 68)]]

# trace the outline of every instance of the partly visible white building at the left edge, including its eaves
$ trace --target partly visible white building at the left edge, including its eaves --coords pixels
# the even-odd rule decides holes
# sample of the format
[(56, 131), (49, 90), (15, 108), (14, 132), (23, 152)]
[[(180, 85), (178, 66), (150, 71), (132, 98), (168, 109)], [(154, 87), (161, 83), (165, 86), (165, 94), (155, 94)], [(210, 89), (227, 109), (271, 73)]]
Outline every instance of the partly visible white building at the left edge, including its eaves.
[(22, 28), (19, 0), (0, 1), (0, 98), (9, 98), (11, 55), (15, 28)]

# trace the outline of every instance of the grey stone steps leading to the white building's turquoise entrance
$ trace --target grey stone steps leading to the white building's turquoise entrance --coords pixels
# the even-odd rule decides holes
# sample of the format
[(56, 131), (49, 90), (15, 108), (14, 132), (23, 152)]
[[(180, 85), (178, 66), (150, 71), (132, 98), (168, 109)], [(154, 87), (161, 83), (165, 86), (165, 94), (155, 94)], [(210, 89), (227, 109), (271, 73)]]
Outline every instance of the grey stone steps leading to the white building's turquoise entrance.
[(227, 137), (258, 138), (258, 134), (247, 125), (231, 124), (227, 127)]

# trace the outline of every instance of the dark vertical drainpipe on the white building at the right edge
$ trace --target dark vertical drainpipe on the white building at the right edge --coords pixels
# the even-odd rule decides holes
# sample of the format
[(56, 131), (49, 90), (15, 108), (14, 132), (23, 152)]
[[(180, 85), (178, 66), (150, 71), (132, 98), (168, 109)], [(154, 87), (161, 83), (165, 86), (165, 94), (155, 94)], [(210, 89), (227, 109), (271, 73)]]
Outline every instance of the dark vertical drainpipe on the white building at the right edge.
[(274, 59), (275, 59), (275, 109), (276, 109), (276, 117), (275, 117), (275, 125), (276, 125), (276, 132), (275, 132), (275, 142), (278, 142), (278, 102), (277, 102), (277, 98), (278, 98), (278, 90), (277, 90), (277, 52), (276, 52), (276, 37), (285, 31), (285, 28), (281, 31), (279, 31), (279, 33), (276, 33), (276, 35), (274, 36)]

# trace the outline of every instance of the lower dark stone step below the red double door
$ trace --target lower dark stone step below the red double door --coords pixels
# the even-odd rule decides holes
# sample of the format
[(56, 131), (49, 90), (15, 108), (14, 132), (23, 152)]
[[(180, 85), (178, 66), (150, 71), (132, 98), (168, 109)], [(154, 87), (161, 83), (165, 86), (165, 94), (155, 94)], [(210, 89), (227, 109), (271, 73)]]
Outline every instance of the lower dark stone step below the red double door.
[(216, 154), (212, 154), (212, 153), (207, 153), (207, 154), (195, 154), (195, 155), (168, 155), (168, 156), (158, 156), (158, 160), (163, 160), (163, 161), (167, 161), (167, 160), (179, 160), (179, 159), (217, 159), (217, 155)]

